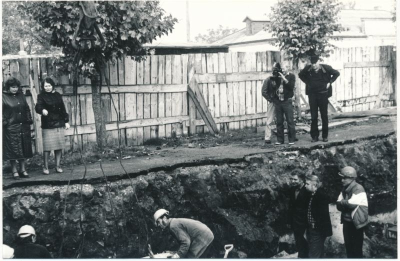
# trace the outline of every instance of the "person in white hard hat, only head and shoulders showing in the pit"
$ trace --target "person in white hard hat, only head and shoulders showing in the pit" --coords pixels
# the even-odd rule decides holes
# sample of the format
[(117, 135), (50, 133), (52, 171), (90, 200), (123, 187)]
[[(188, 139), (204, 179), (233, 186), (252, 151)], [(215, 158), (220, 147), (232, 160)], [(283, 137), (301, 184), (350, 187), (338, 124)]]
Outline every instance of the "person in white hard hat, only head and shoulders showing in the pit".
[(35, 244), (36, 233), (30, 225), (22, 225), (18, 230), (18, 246), (15, 258), (51, 258), (50, 252), (42, 245)]

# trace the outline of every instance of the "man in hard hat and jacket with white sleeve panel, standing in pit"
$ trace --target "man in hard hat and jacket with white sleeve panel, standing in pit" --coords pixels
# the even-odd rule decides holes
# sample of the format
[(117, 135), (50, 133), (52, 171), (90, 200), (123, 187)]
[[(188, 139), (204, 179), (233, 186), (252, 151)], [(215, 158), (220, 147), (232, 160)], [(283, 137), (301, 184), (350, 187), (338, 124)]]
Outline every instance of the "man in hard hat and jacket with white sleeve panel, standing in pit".
[(343, 188), (336, 201), (341, 211), (344, 245), (348, 258), (362, 258), (364, 227), (368, 223), (368, 201), (362, 185), (355, 182), (357, 172), (351, 166), (343, 167), (339, 176)]

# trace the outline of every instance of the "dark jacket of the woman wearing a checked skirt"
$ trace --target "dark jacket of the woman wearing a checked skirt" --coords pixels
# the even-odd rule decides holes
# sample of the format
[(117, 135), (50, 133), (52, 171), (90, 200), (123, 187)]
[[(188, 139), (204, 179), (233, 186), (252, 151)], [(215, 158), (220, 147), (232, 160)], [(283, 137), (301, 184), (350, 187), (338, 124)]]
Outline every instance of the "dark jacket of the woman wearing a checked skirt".
[[(48, 111), (47, 116), (42, 115), (43, 109)], [(41, 128), (63, 127), (69, 121), (62, 96), (56, 91), (40, 92), (34, 110), (41, 115)]]

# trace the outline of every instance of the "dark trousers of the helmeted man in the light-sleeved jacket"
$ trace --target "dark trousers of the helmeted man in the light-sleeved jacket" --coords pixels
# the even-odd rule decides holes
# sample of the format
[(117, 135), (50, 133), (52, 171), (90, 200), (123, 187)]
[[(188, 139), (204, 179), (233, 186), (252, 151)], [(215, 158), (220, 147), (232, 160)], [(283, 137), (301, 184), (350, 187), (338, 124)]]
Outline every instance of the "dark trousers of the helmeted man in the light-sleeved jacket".
[(347, 258), (362, 258), (364, 228), (355, 228), (353, 222), (343, 221), (344, 246)]

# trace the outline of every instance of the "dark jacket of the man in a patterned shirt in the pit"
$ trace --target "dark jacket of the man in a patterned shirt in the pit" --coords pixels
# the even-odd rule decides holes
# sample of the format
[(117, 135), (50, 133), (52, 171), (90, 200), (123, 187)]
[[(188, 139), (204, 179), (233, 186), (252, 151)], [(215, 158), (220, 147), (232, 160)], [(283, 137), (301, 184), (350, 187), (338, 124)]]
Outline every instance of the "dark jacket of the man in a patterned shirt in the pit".
[(329, 216), (329, 203), (325, 194), (318, 188), (312, 197), (311, 215), (315, 220), (315, 228), (323, 236), (332, 235), (332, 225)]

